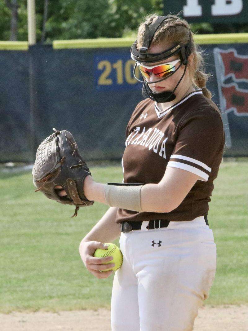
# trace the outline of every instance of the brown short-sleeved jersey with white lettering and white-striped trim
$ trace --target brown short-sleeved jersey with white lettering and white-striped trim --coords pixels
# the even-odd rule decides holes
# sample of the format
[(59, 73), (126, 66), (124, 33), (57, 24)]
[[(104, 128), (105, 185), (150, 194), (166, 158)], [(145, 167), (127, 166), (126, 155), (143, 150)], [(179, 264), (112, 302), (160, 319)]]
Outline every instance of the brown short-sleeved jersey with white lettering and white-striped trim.
[(223, 122), (218, 107), (195, 90), (166, 111), (151, 99), (141, 101), (126, 128), (124, 183), (159, 183), (166, 167), (199, 176), (182, 203), (170, 213), (118, 209), (116, 222), (167, 219), (188, 221), (208, 214), (224, 149)]

